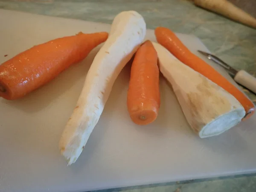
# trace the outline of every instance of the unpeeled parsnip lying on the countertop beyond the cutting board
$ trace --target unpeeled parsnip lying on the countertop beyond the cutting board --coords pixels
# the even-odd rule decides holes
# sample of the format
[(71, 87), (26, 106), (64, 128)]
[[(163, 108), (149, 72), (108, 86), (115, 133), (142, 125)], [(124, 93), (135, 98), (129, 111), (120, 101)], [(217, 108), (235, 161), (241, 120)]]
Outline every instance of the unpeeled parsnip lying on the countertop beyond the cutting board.
[(195, 5), (256, 28), (256, 19), (227, 0), (194, 0)]

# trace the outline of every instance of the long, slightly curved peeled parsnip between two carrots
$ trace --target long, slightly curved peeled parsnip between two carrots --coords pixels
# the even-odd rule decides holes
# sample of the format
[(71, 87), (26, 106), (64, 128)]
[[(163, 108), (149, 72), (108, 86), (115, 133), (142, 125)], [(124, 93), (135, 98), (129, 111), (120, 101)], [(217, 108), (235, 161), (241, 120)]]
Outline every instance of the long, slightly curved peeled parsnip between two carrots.
[(75, 163), (102, 114), (122, 68), (143, 43), (146, 24), (135, 12), (121, 12), (113, 20), (105, 44), (87, 73), (77, 105), (61, 136), (59, 147), (68, 165)]

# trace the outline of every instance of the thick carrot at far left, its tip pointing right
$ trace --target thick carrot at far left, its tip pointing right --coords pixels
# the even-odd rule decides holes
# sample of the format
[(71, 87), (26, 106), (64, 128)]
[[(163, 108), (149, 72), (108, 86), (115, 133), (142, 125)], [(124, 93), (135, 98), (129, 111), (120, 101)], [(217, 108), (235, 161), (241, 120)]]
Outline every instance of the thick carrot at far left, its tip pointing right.
[(21, 52), (0, 65), (0, 96), (9, 100), (25, 96), (83, 60), (107, 38), (107, 32), (80, 32)]

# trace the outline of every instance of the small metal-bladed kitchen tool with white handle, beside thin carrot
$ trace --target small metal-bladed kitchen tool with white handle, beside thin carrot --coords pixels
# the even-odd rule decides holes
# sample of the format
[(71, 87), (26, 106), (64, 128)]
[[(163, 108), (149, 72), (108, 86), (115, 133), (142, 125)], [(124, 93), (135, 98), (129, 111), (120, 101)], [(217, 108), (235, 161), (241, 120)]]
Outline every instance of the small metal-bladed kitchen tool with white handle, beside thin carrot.
[(209, 54), (207, 52), (203, 52), (198, 50), (201, 54), (207, 56), (208, 59), (214, 61), (216, 64), (221, 65), (224, 67), (228, 73), (233, 76), (234, 80), (241, 84), (242, 86), (246, 87), (247, 89), (251, 90), (253, 93), (256, 94), (256, 78), (247, 73), (244, 70), (235, 70), (233, 67), (230, 67), (227, 63), (222, 61), (220, 58), (216, 57), (215, 55)]

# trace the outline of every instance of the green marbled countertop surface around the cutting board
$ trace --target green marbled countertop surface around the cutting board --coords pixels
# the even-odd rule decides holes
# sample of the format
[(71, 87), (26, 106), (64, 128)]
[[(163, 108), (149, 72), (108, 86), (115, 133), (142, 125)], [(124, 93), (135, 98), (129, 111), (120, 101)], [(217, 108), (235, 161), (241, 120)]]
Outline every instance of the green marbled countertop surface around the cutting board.
[[(165, 26), (175, 32), (196, 35), (222, 60), (236, 69), (247, 70), (256, 76), (256, 29), (198, 8), (190, 0), (0, 0), (0, 9), (103, 23), (111, 23), (121, 11), (135, 10), (143, 15), (148, 29)], [(245, 92), (256, 103), (256, 96), (247, 90)], [(256, 192), (256, 175), (106, 189), (98, 192), (114, 191)]]

